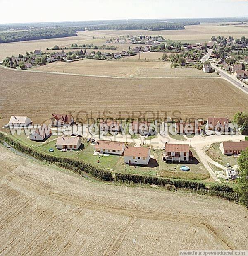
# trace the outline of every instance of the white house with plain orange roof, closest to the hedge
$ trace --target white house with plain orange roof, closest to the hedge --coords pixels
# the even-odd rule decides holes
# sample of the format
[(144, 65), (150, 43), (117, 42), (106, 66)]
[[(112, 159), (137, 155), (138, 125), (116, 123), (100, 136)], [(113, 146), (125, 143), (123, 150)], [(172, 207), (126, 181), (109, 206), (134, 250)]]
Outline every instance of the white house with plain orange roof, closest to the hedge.
[(124, 151), (126, 164), (148, 165), (150, 161), (150, 149), (148, 147), (129, 147)]

